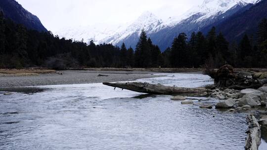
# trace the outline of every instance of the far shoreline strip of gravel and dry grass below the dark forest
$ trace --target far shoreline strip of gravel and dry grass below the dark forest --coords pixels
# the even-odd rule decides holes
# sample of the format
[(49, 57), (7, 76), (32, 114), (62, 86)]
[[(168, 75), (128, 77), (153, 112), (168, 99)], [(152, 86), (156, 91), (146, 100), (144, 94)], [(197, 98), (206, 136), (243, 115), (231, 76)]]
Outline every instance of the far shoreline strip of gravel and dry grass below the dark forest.
[[(203, 74), (203, 71), (204, 69), (198, 68), (69, 68), (58, 71), (47, 68), (0, 69), (0, 87), (118, 82), (162, 76), (155, 75), (158, 73)], [(235, 71), (251, 75), (266, 72), (267, 69), (235, 69)]]

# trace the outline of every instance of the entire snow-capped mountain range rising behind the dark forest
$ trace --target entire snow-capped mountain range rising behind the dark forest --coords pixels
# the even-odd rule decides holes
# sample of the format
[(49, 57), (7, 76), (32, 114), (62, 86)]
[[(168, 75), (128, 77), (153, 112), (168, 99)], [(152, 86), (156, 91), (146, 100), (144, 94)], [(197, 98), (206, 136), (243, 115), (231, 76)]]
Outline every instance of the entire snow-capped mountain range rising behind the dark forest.
[(97, 25), (65, 29), (58, 31), (59, 37), (84, 39), (85, 42), (94, 40), (98, 43), (113, 43), (120, 46), (125, 42), (127, 47), (135, 47), (140, 31), (144, 29), (155, 44), (162, 50), (170, 46), (173, 38), (178, 33), (200, 31), (219, 20), (231, 16), (249, 3), (256, 3), (257, 0), (204, 0), (199, 6), (195, 6), (182, 16), (173, 16), (162, 21), (151, 12), (144, 12), (134, 22), (121, 26)]

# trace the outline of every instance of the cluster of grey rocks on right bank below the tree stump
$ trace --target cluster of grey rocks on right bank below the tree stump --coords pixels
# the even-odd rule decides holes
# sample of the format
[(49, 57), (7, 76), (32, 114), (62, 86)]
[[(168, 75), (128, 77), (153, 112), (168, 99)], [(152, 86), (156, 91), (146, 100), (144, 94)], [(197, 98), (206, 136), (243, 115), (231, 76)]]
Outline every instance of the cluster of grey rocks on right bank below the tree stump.
[(267, 86), (258, 90), (244, 89), (241, 91), (226, 89), (224, 91), (214, 90), (211, 94), (214, 98), (223, 101), (216, 104), (216, 108), (228, 109), (235, 107), (236, 109), (248, 110), (252, 107), (266, 107), (267, 105)]

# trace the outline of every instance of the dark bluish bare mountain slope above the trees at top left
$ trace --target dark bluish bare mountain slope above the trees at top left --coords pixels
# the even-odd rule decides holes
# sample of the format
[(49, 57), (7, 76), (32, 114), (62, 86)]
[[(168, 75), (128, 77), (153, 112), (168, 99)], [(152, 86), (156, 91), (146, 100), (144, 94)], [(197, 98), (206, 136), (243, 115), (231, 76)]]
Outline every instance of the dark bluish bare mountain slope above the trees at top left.
[(0, 10), (6, 18), (11, 19), (17, 24), (23, 24), (28, 29), (46, 32), (39, 18), (24, 9), (15, 0), (0, 0)]

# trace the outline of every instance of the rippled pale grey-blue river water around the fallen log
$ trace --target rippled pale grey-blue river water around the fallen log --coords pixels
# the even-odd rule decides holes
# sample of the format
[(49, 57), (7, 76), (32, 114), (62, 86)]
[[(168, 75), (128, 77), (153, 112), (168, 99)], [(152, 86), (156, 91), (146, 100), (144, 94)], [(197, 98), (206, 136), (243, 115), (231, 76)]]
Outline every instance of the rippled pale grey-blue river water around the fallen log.
[[(213, 83), (193, 74), (138, 81), (182, 87)], [(245, 113), (199, 109), (172, 96), (101, 83), (39, 87), (47, 90), (0, 94), (0, 150), (244, 149)]]

